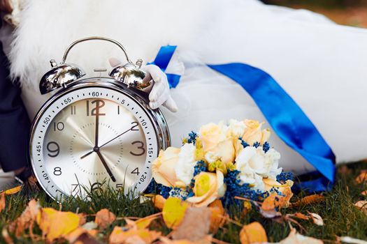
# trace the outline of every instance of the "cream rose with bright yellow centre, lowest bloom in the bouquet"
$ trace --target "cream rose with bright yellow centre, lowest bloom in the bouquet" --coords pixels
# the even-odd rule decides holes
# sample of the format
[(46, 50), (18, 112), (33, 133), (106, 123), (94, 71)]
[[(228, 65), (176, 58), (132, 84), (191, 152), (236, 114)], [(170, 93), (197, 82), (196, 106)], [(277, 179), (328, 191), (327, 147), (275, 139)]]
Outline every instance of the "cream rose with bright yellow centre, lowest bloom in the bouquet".
[(210, 203), (224, 196), (226, 185), (221, 171), (215, 173), (201, 172), (195, 176), (194, 197), (187, 201), (194, 206), (208, 206)]

